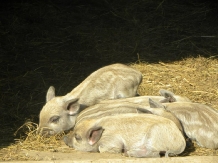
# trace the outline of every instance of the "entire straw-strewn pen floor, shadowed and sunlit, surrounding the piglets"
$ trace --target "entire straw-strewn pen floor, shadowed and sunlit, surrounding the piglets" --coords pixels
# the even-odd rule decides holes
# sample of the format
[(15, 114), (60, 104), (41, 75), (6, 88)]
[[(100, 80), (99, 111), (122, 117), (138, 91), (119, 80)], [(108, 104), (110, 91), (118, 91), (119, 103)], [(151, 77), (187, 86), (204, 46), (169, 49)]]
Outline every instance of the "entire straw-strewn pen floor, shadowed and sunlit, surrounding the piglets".
[[(143, 73), (141, 95), (159, 89), (218, 109), (218, 19), (213, 1), (2, 1), (0, 161), (217, 162), (218, 150), (187, 148), (145, 159), (74, 151), (62, 136), (35, 134), (50, 85), (65, 95), (116, 62)], [(66, 162), (66, 161), (65, 161)]]

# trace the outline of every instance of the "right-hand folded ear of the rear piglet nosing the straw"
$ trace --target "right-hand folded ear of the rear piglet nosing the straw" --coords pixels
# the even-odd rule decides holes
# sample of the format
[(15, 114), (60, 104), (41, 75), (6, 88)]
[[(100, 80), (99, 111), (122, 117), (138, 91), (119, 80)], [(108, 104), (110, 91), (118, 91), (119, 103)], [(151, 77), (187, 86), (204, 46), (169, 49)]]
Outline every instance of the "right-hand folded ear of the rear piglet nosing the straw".
[(74, 98), (66, 102), (67, 110), (69, 111), (69, 115), (75, 115), (79, 112), (80, 104), (78, 102), (79, 98)]

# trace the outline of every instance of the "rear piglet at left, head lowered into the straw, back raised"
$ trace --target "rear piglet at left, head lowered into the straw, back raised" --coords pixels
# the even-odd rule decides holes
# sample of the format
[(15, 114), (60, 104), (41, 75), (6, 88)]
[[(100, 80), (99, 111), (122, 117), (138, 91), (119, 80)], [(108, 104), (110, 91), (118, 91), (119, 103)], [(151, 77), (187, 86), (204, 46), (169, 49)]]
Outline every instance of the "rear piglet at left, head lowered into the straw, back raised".
[(37, 133), (53, 135), (69, 130), (84, 108), (106, 99), (136, 96), (141, 81), (141, 72), (123, 64), (112, 64), (93, 72), (65, 96), (55, 97), (54, 87), (50, 87)]

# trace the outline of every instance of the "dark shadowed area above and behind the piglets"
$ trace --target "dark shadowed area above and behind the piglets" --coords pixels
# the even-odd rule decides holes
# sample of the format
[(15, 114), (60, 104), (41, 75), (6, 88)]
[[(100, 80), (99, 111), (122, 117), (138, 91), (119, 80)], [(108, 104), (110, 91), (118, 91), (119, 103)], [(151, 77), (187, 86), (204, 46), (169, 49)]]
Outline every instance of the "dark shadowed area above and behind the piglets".
[[(0, 2), (0, 146), (38, 123), (48, 87), (70, 92), (115, 62), (217, 57), (218, 3), (203, 0)], [(202, 37), (207, 36), (207, 37)]]

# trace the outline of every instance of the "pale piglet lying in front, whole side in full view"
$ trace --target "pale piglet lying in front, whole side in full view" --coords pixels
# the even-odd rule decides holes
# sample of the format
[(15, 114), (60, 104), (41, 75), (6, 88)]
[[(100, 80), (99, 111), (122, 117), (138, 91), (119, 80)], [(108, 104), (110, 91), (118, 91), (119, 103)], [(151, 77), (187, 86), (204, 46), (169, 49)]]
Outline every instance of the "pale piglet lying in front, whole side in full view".
[(174, 122), (153, 114), (120, 114), (87, 119), (64, 137), (80, 151), (122, 153), (132, 157), (180, 154), (186, 142)]

